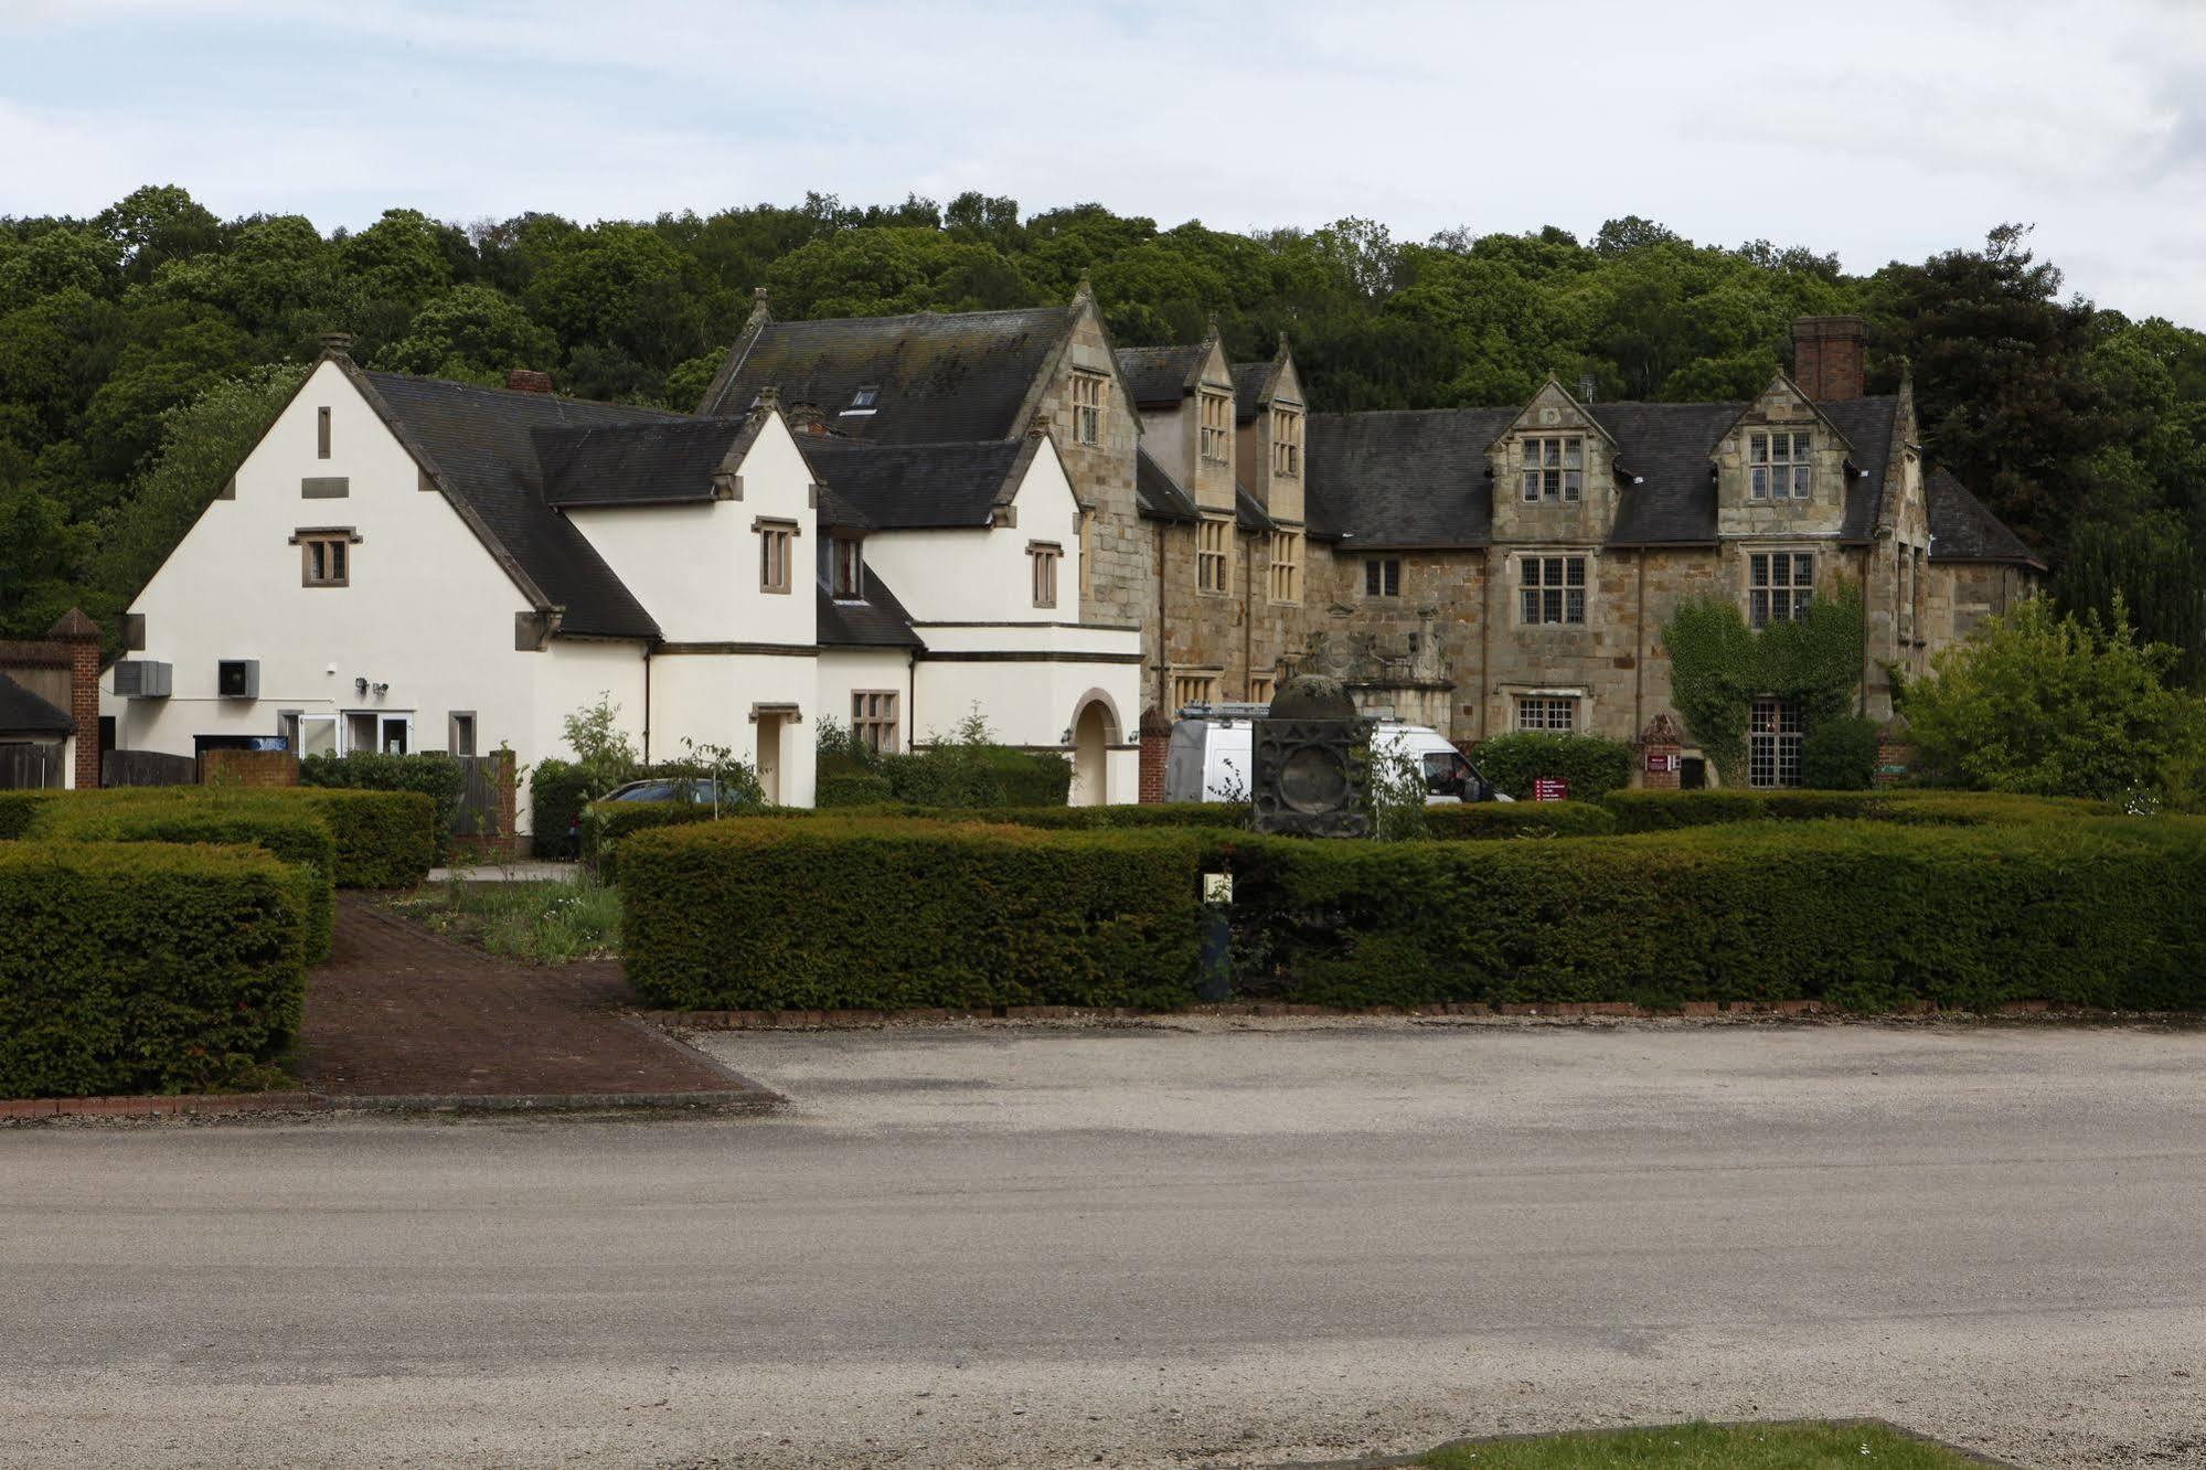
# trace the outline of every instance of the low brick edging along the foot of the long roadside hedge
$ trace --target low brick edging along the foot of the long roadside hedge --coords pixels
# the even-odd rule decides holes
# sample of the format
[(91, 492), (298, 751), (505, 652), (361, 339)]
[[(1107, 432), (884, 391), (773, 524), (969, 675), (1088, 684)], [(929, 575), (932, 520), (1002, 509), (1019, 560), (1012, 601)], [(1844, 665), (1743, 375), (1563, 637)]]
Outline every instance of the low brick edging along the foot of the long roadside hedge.
[(2116, 1015), (2111, 1011), (2082, 1011), (2082, 1009), (2060, 1009), (2056, 1011), (2052, 1002), (2045, 1000), (2012, 1000), (1996, 1011), (1943, 1011), (1928, 1002), (1917, 1006), (1897, 1006), (1891, 1011), (1846, 1011), (1842, 1006), (1829, 1006), (1820, 1000), (1688, 1000), (1677, 1009), (1652, 1009), (1635, 1006), (1621, 1000), (1560, 1000), (1560, 1002), (1538, 1002), (1538, 1004), (1485, 1004), (1485, 1002), (1436, 1002), (1429, 1006), (1366, 1006), (1357, 1011), (1343, 1011), (1339, 1006), (1306, 1006), (1288, 1004), (1277, 1000), (1244, 1000), (1224, 1004), (1202, 1004), (1185, 1006), (1180, 1011), (1136, 1011), (1132, 1006), (990, 1006), (990, 1009), (942, 1009), (924, 1006), (913, 1011), (640, 1011), (640, 1020), (655, 1026), (679, 1026), (686, 1031), (863, 1031), (867, 1026), (924, 1026), (940, 1022), (977, 1022), (977, 1020), (1154, 1020), (1167, 1015), (1310, 1015), (1310, 1018), (1357, 1018), (1357, 1015), (1463, 1015), (1463, 1018), (1540, 1018), (1540, 1020), (1595, 1020), (1595, 1018), (1621, 1018), (1621, 1020), (1681, 1020), (1681, 1018), (1710, 1018), (1710, 1015), (1738, 1015), (1738, 1018), (1782, 1018), (1782, 1015), (1838, 1015), (1851, 1020), (1880, 1020), (1880, 1018), (1924, 1018), (1924, 1015), (1952, 1015), (1952, 1018), (2012, 1018), (2012, 1015), (2071, 1015), (2076, 1020), (2096, 1020)]

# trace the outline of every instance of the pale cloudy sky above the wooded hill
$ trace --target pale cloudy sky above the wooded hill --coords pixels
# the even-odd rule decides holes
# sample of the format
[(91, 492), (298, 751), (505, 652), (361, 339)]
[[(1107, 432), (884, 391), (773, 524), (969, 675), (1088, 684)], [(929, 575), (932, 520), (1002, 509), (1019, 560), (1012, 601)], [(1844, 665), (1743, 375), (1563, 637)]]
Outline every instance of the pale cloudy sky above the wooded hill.
[(0, 0), (0, 214), (183, 183), (324, 230), (977, 188), (1222, 230), (1835, 249), (2034, 221), (2206, 327), (2206, 0)]

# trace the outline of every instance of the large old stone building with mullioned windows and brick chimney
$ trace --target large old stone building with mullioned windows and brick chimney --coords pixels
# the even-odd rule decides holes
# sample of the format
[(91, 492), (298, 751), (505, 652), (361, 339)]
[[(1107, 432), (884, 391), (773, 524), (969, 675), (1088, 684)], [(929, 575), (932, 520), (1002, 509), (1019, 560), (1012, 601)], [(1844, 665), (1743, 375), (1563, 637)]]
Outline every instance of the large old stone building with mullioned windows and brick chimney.
[[(1864, 393), (1860, 318), (1802, 318), (1752, 402), (1310, 415), (1268, 362), (1114, 349), (1065, 307), (777, 322), (763, 298), (699, 413), (779, 388), (816, 433), (1006, 439), (1046, 428), (1081, 503), (1090, 618), (1141, 627), (1152, 724), (1339, 675), (1463, 746), (1504, 731), (1637, 742), (1677, 726), (1661, 627), (1688, 598), (1749, 622), (1862, 589), (1862, 713), (2034, 587), (2043, 565), (1926, 475), (1913, 391)], [(1754, 779), (1796, 779), (1798, 713), (1754, 711)], [(1121, 739), (1132, 733), (1121, 733)], [(1701, 770), (1683, 733), (1683, 764)]]

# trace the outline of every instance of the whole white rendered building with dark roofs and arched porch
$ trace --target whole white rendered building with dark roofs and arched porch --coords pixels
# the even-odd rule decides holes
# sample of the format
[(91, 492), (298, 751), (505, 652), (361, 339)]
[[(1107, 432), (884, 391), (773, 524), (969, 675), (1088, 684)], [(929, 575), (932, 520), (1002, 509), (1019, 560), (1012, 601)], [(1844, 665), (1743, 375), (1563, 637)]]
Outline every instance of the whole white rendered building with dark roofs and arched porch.
[[(523, 375), (516, 375), (516, 380)], [(540, 380), (538, 380), (540, 382)], [(609, 697), (810, 806), (816, 724), (907, 750), (979, 713), (1132, 801), (1141, 631), (1081, 620), (1046, 433), (858, 444), (371, 373), (329, 351), (126, 618), (115, 746), (569, 755)]]

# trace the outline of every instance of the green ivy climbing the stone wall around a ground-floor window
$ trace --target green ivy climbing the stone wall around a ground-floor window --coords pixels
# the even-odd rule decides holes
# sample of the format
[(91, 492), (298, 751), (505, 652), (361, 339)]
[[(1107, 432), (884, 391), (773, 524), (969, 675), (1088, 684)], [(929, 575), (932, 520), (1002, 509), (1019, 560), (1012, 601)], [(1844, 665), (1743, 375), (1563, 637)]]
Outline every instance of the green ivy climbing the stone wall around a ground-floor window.
[(1747, 627), (1725, 598), (1681, 603), (1661, 629), (1670, 697), (1725, 784), (1747, 779), (1754, 700), (1793, 700), (1813, 731), (1846, 715), (1862, 682), (1862, 589), (1842, 583), (1791, 622)]

